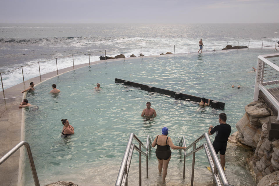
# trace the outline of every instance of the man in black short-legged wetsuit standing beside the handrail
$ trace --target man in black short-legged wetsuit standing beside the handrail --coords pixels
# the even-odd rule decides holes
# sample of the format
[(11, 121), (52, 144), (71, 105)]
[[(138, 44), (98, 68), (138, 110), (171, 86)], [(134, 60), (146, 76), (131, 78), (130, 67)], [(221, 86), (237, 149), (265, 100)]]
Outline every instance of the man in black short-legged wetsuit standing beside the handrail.
[(219, 123), (220, 125), (217, 125), (213, 128), (212, 125), (208, 128), (208, 134), (212, 135), (216, 132), (215, 140), (213, 142), (213, 147), (218, 154), (220, 151), (220, 163), (222, 168), (225, 168), (226, 160), (225, 160), (225, 152), (227, 149), (227, 141), (228, 137), (230, 136), (230, 133), (232, 131), (232, 128), (229, 124), (226, 124), (227, 121), (227, 115), (225, 113), (219, 114)]

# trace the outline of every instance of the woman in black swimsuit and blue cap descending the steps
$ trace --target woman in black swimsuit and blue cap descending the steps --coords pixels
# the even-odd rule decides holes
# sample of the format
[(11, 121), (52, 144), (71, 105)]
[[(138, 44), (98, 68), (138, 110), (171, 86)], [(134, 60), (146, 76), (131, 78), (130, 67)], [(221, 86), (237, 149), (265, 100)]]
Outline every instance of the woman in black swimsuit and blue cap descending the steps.
[(186, 149), (185, 146), (175, 146), (171, 138), (168, 137), (168, 133), (169, 129), (167, 127), (162, 128), (162, 135), (156, 136), (151, 145), (152, 147), (157, 145), (156, 157), (158, 159), (159, 173), (161, 174), (163, 171), (162, 183), (166, 183), (165, 178), (167, 176), (169, 160), (171, 160), (171, 149)]

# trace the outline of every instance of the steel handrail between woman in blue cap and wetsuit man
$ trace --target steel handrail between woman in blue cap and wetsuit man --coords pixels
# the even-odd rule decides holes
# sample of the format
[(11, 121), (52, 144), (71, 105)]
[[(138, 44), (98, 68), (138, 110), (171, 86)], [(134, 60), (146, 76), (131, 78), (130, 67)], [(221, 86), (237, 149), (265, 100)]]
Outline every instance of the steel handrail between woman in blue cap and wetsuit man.
[[(203, 143), (201, 146), (196, 148), (196, 143), (201, 141), (203, 138), (205, 138), (206, 143)], [(179, 146), (186, 146), (185, 137), (183, 136), (181, 139), (178, 138)], [(189, 150), (193, 146), (193, 150), (189, 153), (186, 153), (187, 150)], [(195, 170), (195, 155), (196, 152), (204, 149), (206, 157), (208, 159), (212, 176), (213, 176), (213, 185), (217, 186), (233, 186), (228, 183), (228, 180), (226, 178), (226, 175), (224, 173), (224, 170), (222, 169), (221, 163), (217, 157), (217, 154), (214, 150), (214, 147), (210, 141), (208, 133), (204, 133), (201, 135), (198, 139), (196, 139), (193, 143), (191, 143), (184, 151), (184, 165), (183, 165), (183, 179), (185, 179), (185, 159), (189, 155), (193, 154), (192, 159), (192, 177), (191, 177), (191, 186), (193, 186), (194, 183), (194, 170)], [(181, 150), (180, 150), (181, 153)]]

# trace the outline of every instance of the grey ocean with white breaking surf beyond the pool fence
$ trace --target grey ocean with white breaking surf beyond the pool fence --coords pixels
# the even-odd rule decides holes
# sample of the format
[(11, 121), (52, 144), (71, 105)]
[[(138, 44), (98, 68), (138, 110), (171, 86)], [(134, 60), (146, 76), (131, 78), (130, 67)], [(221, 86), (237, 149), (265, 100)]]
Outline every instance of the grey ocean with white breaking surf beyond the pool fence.
[[(22, 82), (21, 66), (44, 62), (41, 73), (56, 70), (55, 58), (74, 54), (75, 64), (125, 52), (139, 56), (159, 53), (194, 53), (203, 39), (203, 51), (228, 44), (275, 48), (279, 23), (266, 24), (0, 24), (0, 71), (4, 89)], [(271, 46), (271, 47), (265, 47)], [(125, 51), (124, 51), (125, 49)], [(105, 51), (106, 50), (106, 51)], [(271, 52), (272, 53), (272, 52)], [(71, 58), (58, 61), (72, 66)], [(41, 63), (40, 63), (41, 65)], [(11, 71), (17, 69), (15, 71)], [(11, 71), (11, 72), (6, 72)], [(6, 73), (4, 73), (6, 72)], [(37, 65), (24, 67), (24, 78), (39, 75)]]

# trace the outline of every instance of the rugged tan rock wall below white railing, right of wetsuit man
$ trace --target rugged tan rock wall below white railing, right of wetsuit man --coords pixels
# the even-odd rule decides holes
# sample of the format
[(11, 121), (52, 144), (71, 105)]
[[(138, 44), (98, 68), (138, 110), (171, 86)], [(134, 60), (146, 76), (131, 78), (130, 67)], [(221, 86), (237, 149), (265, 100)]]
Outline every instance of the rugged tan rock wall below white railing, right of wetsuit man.
[[(245, 111), (244, 116), (236, 124), (238, 132), (233, 135), (238, 142), (255, 149), (255, 154), (247, 159), (247, 163), (259, 185), (262, 185), (262, 182), (275, 183), (276, 179), (278, 182), (279, 140), (269, 140), (267, 130), (271, 112), (267, 105), (261, 101), (246, 105)], [(266, 177), (271, 174), (277, 175), (275, 180), (274, 176)], [(260, 182), (263, 178), (265, 181)], [(270, 180), (271, 178), (273, 181)]]

